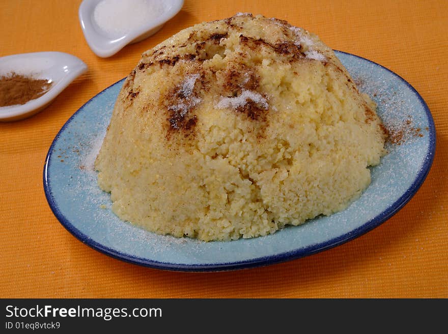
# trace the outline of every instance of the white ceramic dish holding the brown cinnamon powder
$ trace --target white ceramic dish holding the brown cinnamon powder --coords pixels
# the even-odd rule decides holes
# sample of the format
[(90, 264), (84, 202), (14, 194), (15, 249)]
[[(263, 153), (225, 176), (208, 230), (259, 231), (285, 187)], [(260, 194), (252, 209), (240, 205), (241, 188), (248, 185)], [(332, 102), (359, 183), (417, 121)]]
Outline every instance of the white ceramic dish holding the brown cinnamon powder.
[(51, 80), (51, 88), (22, 105), (0, 107), (0, 121), (29, 117), (47, 107), (75, 78), (87, 71), (81, 59), (64, 52), (33, 52), (0, 58), (0, 76), (15, 72)]

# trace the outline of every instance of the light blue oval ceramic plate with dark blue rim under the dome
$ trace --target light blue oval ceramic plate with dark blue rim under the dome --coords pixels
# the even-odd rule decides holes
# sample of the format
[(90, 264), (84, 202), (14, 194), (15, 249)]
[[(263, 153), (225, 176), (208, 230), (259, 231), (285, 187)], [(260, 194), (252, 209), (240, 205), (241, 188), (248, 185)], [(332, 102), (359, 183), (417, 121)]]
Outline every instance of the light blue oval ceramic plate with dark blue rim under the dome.
[(114, 258), (180, 271), (249, 268), (297, 259), (343, 244), (380, 225), (422, 185), (435, 150), (431, 113), (415, 89), (386, 68), (336, 51), (360, 90), (378, 104), (393, 134), (372, 183), (346, 210), (272, 235), (228, 242), (161, 236), (121, 221), (109, 194), (97, 187), (93, 161), (123, 80), (83, 105), (55, 137), (44, 166), (44, 189), (54, 215), (80, 241)]

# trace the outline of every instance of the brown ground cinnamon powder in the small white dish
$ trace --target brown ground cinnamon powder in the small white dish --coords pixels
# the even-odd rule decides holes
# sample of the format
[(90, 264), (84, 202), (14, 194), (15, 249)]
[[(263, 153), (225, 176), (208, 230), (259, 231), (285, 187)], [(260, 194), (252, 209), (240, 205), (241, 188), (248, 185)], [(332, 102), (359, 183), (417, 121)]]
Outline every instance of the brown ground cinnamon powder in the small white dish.
[(17, 73), (0, 77), (0, 107), (25, 104), (37, 99), (47, 92), (52, 85), (51, 80), (36, 79)]

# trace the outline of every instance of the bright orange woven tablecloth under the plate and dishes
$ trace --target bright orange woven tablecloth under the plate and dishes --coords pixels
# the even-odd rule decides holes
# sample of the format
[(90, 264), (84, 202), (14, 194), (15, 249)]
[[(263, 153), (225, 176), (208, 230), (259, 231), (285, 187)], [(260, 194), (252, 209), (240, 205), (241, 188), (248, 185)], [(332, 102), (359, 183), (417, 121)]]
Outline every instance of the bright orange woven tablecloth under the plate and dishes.
[[(109, 58), (88, 47), (77, 1), (0, 2), (0, 56), (62, 51), (89, 67), (44, 111), (0, 124), (0, 297), (448, 297), (448, 2), (185, 1), (156, 35)], [(181, 28), (252, 12), (288, 20), (333, 49), (405, 78), (435, 120), (433, 167), (387, 222), (337, 248), (230, 272), (170, 272), (128, 264), (78, 241), (53, 216), (42, 168), (66, 120), (125, 77), (142, 52)]]

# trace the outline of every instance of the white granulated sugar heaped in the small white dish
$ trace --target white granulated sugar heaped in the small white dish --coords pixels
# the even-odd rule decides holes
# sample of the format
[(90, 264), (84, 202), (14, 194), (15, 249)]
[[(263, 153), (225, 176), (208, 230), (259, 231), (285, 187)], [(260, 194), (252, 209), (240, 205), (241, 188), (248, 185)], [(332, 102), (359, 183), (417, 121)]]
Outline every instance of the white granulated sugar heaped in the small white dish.
[(103, 0), (95, 7), (93, 18), (104, 33), (122, 36), (157, 18), (163, 9), (161, 1)]

